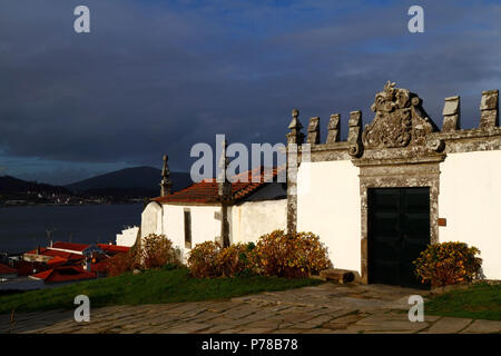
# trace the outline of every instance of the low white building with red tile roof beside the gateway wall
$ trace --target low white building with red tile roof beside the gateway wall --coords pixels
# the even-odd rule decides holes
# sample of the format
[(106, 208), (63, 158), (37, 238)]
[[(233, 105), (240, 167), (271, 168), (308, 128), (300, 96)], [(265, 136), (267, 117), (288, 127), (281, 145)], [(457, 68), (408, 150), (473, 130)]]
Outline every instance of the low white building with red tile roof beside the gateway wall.
[[(277, 170), (274, 170), (276, 178)], [(245, 172), (250, 176), (252, 172)], [(248, 179), (250, 180), (250, 179)], [(213, 180), (153, 199), (143, 211), (141, 237), (167, 236), (186, 253), (199, 243), (222, 237), (222, 216), (226, 215), (227, 244), (256, 241), (264, 234), (286, 228), (286, 187), (281, 182), (234, 182), (223, 204), (219, 185)], [(226, 211), (225, 211), (226, 210)]]

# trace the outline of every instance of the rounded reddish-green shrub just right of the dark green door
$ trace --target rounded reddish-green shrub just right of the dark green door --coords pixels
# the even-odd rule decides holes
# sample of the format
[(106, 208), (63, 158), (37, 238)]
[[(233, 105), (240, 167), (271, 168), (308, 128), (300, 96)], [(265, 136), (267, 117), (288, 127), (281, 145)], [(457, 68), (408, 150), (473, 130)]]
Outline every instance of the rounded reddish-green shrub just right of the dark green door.
[(446, 286), (471, 281), (479, 276), (482, 259), (477, 247), (464, 243), (429, 245), (414, 261), (415, 274), (422, 283)]

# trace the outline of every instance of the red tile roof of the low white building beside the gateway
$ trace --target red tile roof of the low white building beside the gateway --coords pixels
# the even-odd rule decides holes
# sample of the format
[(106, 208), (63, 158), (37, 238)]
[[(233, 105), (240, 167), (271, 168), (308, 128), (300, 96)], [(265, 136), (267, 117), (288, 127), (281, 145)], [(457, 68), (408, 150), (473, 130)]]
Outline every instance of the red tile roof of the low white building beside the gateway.
[[(273, 180), (277, 177), (277, 174), (282, 171), (281, 168), (273, 168)], [(258, 182), (253, 182), (253, 174), (259, 177)], [(239, 174), (234, 177), (235, 182), (232, 182), (232, 199), (235, 201), (242, 200), (257, 189), (266, 185), (264, 181), (263, 168), (256, 168), (246, 172)], [(158, 197), (151, 200), (158, 202), (216, 202), (218, 201), (218, 182), (213, 179), (205, 179), (200, 182), (193, 184), (191, 186), (178, 190), (167, 197)]]

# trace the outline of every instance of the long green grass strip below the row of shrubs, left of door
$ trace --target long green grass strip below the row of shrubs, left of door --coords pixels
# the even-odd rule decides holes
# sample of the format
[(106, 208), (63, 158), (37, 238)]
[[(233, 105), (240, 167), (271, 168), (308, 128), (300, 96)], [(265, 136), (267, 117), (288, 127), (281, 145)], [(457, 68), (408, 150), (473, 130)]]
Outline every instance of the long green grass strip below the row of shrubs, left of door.
[(284, 290), (321, 284), (317, 279), (277, 277), (234, 277), (203, 279), (186, 268), (155, 269), (81, 281), (57, 288), (0, 296), (0, 314), (72, 309), (77, 295), (87, 295), (91, 307), (226, 299), (265, 290)]

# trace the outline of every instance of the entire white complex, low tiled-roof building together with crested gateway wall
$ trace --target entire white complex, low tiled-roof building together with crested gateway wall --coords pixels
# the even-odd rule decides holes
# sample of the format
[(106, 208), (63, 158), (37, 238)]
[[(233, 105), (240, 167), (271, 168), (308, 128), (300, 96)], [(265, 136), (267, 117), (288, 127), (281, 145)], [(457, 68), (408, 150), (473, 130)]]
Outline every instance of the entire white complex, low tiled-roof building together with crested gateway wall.
[[(313, 231), (335, 268), (357, 271), (363, 283), (416, 286), (412, 261), (429, 244), (463, 241), (481, 250), (484, 277), (501, 279), (499, 91), (482, 92), (475, 129), (460, 128), (460, 98), (446, 98), (439, 129), (418, 95), (394, 86), (376, 93), (370, 125), (362, 127), (361, 111), (350, 113), (346, 141), (340, 115), (331, 116), (325, 144), (312, 118), (311, 154), (288, 157), (298, 167), (287, 169), (287, 199), (236, 199), (227, 214), (230, 243), (284, 227)], [(289, 129), (289, 147), (306, 147), (297, 110)], [(209, 197), (217, 197), (215, 182), (154, 199), (141, 236), (165, 234), (187, 248), (219, 238), (222, 205)]]

